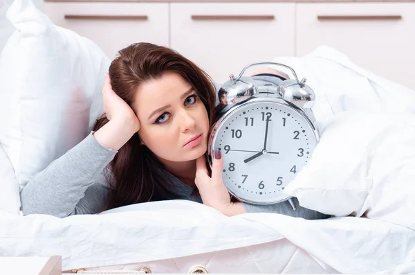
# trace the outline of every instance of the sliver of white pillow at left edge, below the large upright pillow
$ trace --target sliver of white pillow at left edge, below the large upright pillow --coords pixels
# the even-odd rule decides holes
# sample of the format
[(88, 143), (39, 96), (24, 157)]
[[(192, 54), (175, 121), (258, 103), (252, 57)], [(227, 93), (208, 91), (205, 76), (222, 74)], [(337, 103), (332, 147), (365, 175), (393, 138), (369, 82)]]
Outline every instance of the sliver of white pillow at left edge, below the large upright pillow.
[(15, 170), (0, 144), (0, 210), (13, 214), (20, 211), (19, 185)]

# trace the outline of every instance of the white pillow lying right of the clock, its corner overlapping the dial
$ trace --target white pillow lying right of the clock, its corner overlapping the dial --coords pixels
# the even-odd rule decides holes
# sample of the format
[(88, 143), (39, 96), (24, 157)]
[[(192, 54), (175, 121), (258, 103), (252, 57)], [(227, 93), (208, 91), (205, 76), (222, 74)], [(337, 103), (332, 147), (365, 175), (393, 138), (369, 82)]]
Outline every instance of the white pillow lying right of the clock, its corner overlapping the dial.
[(415, 229), (415, 115), (341, 112), (285, 188), (299, 204)]

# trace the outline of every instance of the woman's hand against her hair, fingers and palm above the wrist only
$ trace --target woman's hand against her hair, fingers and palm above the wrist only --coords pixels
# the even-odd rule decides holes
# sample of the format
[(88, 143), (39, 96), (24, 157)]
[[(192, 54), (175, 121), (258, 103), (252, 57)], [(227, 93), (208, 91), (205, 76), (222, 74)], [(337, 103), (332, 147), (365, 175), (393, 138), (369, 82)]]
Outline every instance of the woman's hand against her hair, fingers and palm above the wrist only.
[(140, 130), (138, 117), (133, 109), (113, 91), (108, 73), (105, 76), (104, 87), (102, 87), (102, 101), (105, 115), (109, 121), (128, 123), (134, 133)]

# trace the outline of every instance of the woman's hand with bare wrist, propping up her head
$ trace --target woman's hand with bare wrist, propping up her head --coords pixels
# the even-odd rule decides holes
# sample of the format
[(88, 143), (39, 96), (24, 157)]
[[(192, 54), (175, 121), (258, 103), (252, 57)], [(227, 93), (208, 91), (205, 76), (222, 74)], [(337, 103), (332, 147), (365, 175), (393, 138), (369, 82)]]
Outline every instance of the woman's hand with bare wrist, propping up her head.
[(133, 109), (113, 91), (108, 74), (102, 87), (102, 100), (109, 122), (93, 136), (104, 148), (119, 150), (140, 130), (140, 121)]

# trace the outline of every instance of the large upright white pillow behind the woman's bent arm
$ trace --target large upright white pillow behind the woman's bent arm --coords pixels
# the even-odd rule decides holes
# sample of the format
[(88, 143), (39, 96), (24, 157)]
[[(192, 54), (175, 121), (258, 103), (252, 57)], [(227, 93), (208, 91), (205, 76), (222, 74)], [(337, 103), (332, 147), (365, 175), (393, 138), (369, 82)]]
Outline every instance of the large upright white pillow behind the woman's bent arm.
[(89, 134), (110, 60), (30, 0), (15, 0), (7, 17), (16, 31), (0, 56), (0, 142), (21, 190)]

